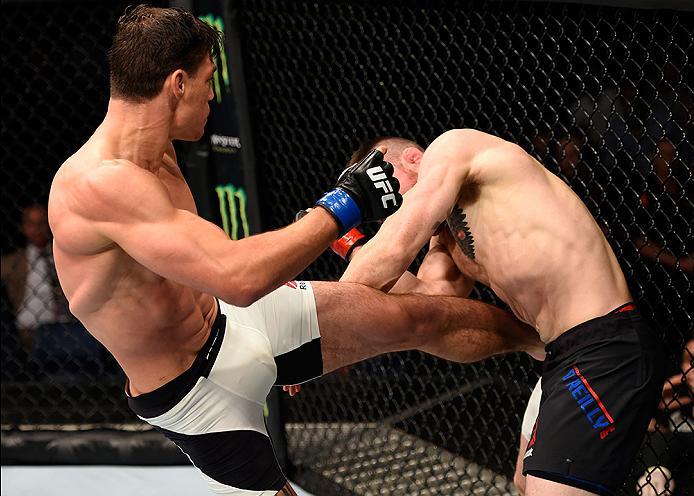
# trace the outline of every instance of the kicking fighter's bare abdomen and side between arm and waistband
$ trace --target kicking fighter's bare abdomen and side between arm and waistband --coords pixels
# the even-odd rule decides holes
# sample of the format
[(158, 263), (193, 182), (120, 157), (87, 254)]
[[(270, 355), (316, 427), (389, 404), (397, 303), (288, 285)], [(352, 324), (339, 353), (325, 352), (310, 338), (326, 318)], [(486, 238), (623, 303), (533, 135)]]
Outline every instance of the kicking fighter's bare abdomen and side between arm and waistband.
[(135, 389), (156, 389), (190, 366), (209, 333), (213, 297), (157, 276), (117, 248), (71, 258), (56, 260), (70, 309)]

